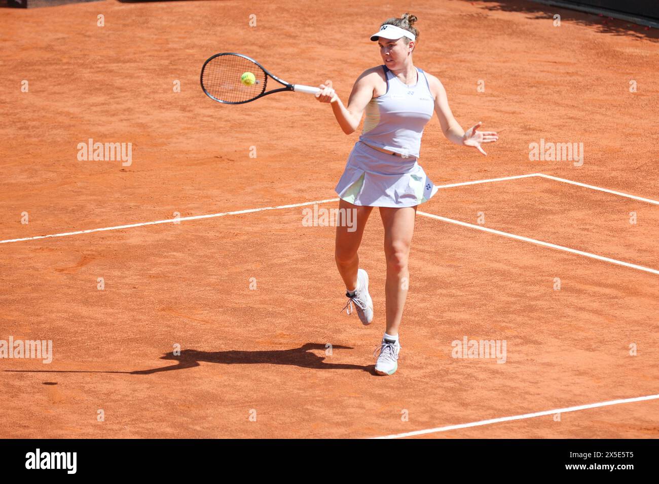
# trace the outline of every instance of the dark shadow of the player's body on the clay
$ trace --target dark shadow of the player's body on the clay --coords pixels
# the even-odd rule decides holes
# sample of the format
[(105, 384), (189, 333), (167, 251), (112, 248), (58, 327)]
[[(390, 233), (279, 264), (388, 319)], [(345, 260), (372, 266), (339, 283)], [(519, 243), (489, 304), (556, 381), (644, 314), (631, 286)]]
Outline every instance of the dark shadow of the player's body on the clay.
[[(352, 350), (350, 346), (332, 346), (332, 350)], [(167, 353), (162, 356), (161, 360), (171, 360), (177, 362), (177, 365), (167, 365), (159, 368), (145, 369), (140, 371), (130, 371), (131, 375), (151, 375), (160, 371), (173, 371), (177, 369), (192, 368), (199, 366), (199, 363), (221, 363), (223, 365), (250, 365), (250, 364), (271, 364), (271, 365), (293, 365), (304, 368), (314, 369), (360, 369), (370, 371), (373, 365), (349, 365), (346, 363), (326, 363), (327, 358), (331, 356), (318, 356), (310, 350), (326, 350), (324, 344), (306, 343), (300, 348), (291, 350), (270, 350), (270, 351), (198, 351), (182, 350), (181, 355)]]

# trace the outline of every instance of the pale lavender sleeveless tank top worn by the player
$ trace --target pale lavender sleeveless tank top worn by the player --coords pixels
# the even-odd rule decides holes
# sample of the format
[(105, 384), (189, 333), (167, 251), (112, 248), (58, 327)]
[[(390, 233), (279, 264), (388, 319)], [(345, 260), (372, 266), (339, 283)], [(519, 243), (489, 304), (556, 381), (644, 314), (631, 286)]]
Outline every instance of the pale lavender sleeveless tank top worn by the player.
[(382, 68), (387, 78), (387, 92), (372, 98), (366, 105), (364, 130), (359, 140), (418, 158), (423, 129), (435, 110), (428, 78), (416, 67), (416, 84), (406, 86), (389, 68), (385, 65)]

